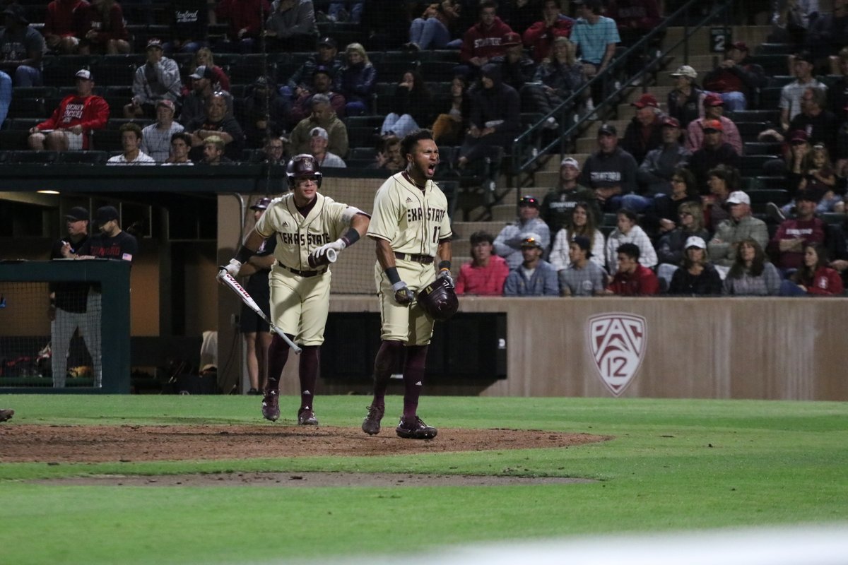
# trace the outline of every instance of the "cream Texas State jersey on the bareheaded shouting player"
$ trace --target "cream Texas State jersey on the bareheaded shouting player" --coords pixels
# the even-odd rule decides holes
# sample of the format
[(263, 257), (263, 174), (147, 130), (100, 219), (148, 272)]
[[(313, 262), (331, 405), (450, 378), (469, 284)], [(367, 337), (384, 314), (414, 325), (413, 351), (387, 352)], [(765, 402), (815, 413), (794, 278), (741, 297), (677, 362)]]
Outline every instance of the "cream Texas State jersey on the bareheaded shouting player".
[(405, 171), (390, 176), (374, 197), (369, 237), (388, 240), (393, 251), (435, 257), (438, 242), (453, 235), (448, 199), (427, 180), (422, 191)]

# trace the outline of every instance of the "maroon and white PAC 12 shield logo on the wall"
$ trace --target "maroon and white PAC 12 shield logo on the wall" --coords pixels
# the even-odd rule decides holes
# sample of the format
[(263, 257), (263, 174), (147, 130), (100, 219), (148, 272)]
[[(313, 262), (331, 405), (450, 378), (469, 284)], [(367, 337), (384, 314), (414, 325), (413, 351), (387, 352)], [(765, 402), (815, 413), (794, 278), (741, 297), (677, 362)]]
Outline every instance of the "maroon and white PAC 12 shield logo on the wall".
[(601, 382), (612, 394), (624, 392), (642, 364), (645, 320), (628, 313), (606, 313), (589, 318), (589, 351)]

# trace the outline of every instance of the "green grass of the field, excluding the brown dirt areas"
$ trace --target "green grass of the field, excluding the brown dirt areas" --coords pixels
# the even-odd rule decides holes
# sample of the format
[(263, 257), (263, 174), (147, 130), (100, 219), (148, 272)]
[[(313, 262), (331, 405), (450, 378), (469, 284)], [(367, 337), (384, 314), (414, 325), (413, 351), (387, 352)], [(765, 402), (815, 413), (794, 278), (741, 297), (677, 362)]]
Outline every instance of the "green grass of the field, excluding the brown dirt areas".
[[(282, 399), (283, 418), (296, 402)], [(367, 403), (362, 396), (321, 397), (321, 424), (358, 426)], [(255, 397), (5, 396), (0, 404), (17, 411), (3, 426), (270, 425), (259, 420)], [(399, 404), (399, 398), (390, 398), (389, 413)], [(16, 565), (320, 562), (483, 540), (848, 521), (845, 403), (428, 396), (421, 400), (421, 414), (437, 427), (550, 429), (614, 439), (568, 449), (414, 457), (3, 463), (0, 560)], [(0, 450), (2, 438), (0, 429)], [(598, 480), (391, 489), (25, 482), (85, 474), (263, 470)]]

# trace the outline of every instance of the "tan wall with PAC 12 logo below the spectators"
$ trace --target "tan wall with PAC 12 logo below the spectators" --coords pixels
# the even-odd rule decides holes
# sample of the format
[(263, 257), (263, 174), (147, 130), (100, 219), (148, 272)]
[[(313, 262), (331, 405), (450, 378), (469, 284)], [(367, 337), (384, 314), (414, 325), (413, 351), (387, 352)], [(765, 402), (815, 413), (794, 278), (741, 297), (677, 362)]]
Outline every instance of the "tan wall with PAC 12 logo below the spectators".
[[(334, 296), (331, 311), (376, 312), (377, 299)], [(848, 400), (848, 299), (466, 297), (460, 311), (507, 314), (508, 377), (425, 394)], [(298, 394), (297, 383), (289, 363), (283, 393)], [(319, 391), (369, 387), (322, 381)]]

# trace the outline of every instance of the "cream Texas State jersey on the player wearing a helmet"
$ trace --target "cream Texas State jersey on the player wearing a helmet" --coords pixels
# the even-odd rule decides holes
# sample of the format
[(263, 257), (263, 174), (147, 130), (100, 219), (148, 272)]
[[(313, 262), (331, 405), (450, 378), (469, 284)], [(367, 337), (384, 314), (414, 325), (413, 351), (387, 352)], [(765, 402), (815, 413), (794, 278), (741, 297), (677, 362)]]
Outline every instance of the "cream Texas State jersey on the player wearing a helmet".
[(276, 234), (274, 258), (290, 269), (314, 271), (307, 258), (315, 249), (336, 241), (349, 228), (344, 219), (347, 204), (315, 193), (315, 206), (306, 217), (294, 205), (294, 193), (275, 198), (256, 222), (256, 231), (265, 238)]

